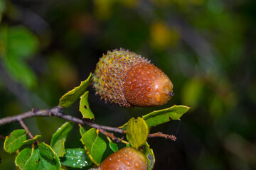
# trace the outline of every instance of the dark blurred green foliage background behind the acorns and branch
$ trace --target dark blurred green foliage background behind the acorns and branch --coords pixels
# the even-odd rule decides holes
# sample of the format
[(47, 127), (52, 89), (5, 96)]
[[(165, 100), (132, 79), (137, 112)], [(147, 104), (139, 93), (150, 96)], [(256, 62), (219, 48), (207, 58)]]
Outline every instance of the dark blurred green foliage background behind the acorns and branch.
[[(0, 118), (52, 108), (78, 86), (107, 50), (149, 58), (173, 81), (175, 96), (156, 108), (120, 108), (90, 88), (95, 122), (119, 126), (169, 106), (190, 106), (181, 121), (151, 132), (154, 169), (256, 169), (256, 1), (0, 0)], [(78, 103), (64, 112), (81, 118)], [(25, 120), (50, 137), (65, 121)], [(0, 127), (1, 135), (21, 128)], [(76, 125), (65, 147), (82, 147)], [(0, 169), (15, 169), (3, 151)]]

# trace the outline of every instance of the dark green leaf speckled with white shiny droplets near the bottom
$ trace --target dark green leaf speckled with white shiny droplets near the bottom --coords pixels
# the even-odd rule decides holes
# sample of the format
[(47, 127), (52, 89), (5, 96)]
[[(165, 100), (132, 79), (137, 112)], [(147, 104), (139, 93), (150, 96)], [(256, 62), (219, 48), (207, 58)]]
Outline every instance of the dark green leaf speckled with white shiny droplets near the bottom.
[(74, 148), (66, 149), (66, 154), (61, 159), (61, 164), (65, 166), (70, 166), (73, 168), (83, 168), (85, 166), (90, 166), (92, 161), (90, 157), (86, 154), (85, 149)]

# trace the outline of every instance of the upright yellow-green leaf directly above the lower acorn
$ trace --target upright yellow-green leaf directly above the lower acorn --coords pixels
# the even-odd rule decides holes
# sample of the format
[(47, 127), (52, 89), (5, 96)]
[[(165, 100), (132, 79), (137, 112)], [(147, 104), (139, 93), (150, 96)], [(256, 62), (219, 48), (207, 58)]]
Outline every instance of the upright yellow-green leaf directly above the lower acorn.
[(127, 123), (127, 140), (134, 148), (138, 148), (146, 142), (149, 135), (149, 128), (145, 120), (138, 118), (137, 121), (131, 118)]

